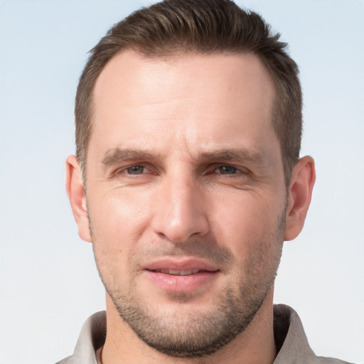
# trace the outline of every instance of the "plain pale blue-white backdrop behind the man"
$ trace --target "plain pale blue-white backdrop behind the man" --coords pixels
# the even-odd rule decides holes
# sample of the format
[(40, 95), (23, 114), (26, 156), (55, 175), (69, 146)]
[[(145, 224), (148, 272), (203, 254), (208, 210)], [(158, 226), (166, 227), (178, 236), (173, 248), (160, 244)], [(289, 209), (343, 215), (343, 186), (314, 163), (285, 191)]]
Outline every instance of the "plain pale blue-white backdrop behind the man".
[[(105, 308), (65, 194), (87, 51), (151, 1), (0, 1), (0, 363), (55, 363)], [(317, 181), (286, 242), (274, 301), (318, 355), (364, 363), (364, 1), (247, 0), (290, 45), (304, 90), (302, 155)]]

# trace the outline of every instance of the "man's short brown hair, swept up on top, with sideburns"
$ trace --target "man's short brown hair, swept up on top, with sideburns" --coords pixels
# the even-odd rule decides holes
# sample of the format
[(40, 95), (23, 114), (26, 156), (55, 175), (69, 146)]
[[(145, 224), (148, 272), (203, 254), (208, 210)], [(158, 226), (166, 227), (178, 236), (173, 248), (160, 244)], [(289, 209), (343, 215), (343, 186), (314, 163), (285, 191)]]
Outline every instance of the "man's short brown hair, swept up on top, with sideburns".
[(149, 58), (181, 53), (254, 53), (274, 80), (273, 127), (281, 145), (284, 176), (299, 159), (302, 96), (298, 67), (287, 44), (272, 34), (259, 14), (230, 0), (164, 0), (114, 25), (90, 51), (75, 102), (76, 153), (85, 177), (87, 146), (92, 132), (93, 90), (97, 77), (117, 53), (132, 49)]

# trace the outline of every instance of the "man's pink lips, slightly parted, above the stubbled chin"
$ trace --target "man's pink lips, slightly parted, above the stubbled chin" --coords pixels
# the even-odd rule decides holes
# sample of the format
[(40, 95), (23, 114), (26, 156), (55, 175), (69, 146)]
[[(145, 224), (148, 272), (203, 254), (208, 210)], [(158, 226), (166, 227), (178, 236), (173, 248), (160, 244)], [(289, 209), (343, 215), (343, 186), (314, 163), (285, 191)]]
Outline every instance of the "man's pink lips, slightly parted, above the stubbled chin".
[[(174, 275), (159, 272), (159, 270), (191, 271), (200, 272), (188, 275)], [(149, 281), (160, 289), (187, 293), (209, 287), (218, 277), (220, 269), (203, 259), (159, 259), (146, 264), (144, 274)]]

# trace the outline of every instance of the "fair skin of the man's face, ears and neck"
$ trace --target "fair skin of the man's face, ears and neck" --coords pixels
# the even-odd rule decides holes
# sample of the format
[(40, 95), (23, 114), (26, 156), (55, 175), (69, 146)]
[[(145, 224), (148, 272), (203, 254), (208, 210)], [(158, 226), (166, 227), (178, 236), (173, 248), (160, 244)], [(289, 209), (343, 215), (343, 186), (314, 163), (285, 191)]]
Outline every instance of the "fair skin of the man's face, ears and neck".
[[(272, 79), (252, 54), (156, 60), (128, 50), (102, 71), (87, 196), (75, 156), (67, 190), (107, 289), (104, 364), (273, 362), (274, 277), (283, 241), (304, 225), (315, 179), (304, 157), (287, 191), (273, 100)], [(151, 273), (158, 264), (205, 264), (208, 273), (170, 282)], [(210, 335), (229, 317), (246, 324), (209, 355), (171, 356), (139, 338), (140, 317), (133, 323), (125, 313), (135, 307), (156, 340), (199, 341), (203, 328)]]

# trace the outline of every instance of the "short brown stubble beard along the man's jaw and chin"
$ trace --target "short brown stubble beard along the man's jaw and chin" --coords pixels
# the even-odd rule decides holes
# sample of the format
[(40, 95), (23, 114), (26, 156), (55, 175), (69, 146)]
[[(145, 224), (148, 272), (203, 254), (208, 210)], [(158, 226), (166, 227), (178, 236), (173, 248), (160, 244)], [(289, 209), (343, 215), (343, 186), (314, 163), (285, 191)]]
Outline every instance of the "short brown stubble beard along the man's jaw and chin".
[[(144, 343), (160, 353), (173, 357), (198, 358), (215, 353), (226, 346), (245, 331), (257, 315), (269, 289), (274, 285), (282, 253), (282, 242), (280, 242), (281, 249), (274, 248), (273, 255), (269, 246), (277, 245), (283, 240), (284, 226), (285, 210), (277, 230), (270, 236), (271, 241), (269, 242), (267, 240), (269, 237), (265, 236), (262, 239), (264, 241), (256, 242), (254, 252), (246, 259), (244, 274), (240, 274), (244, 279), (240, 277), (239, 289), (233, 289), (232, 286), (225, 287), (215, 307), (204, 312), (193, 312), (190, 309), (185, 316), (178, 309), (172, 314), (159, 311), (159, 307), (152, 307), (149, 302), (134, 294), (132, 289), (118, 289), (114, 284), (115, 281), (108, 279), (108, 272), (106, 274), (102, 272), (102, 264), (98, 262), (96, 254), (95, 259), (107, 294), (111, 297), (119, 315)], [(90, 230), (92, 232), (92, 229)], [(92, 242), (95, 252), (95, 246), (102, 245), (102, 242), (97, 242), (93, 232)], [(198, 242), (193, 242), (188, 246), (198, 245)], [(207, 243), (201, 244), (201, 249), (206, 249), (206, 245)], [(186, 253), (191, 253), (191, 250), (187, 248)], [(223, 254), (225, 260), (230, 260), (233, 269), (238, 269), (240, 272), (241, 267), (234, 264), (231, 253), (224, 251)], [(266, 269), (264, 276), (261, 274), (262, 269)], [(133, 288), (134, 285), (131, 284), (130, 287)], [(168, 295), (175, 304), (176, 302), (181, 305), (187, 304), (192, 299), (191, 294)]]

